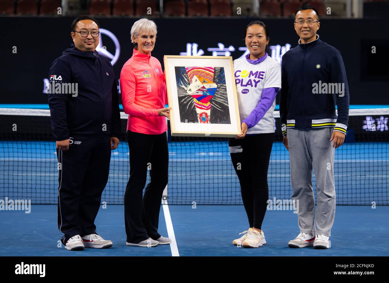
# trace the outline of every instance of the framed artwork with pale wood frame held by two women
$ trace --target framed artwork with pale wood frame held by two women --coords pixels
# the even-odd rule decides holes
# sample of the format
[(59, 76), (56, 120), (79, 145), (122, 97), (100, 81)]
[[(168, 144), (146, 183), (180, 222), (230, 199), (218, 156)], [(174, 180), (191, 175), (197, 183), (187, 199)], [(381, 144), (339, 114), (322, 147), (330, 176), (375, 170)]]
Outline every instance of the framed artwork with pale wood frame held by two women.
[(165, 55), (172, 136), (240, 135), (231, 56)]

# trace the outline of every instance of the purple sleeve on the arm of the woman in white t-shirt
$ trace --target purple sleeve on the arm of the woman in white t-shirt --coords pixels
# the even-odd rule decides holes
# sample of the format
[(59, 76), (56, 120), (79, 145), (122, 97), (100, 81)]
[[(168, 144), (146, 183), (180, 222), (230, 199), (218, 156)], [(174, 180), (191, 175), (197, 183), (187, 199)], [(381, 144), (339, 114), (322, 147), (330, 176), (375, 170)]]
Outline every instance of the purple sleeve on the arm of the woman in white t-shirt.
[(250, 129), (254, 127), (266, 114), (267, 110), (273, 105), (275, 96), (277, 96), (279, 88), (278, 87), (269, 87), (263, 90), (261, 100), (259, 100), (258, 105), (251, 111), (249, 117), (242, 121), (247, 124), (247, 128)]

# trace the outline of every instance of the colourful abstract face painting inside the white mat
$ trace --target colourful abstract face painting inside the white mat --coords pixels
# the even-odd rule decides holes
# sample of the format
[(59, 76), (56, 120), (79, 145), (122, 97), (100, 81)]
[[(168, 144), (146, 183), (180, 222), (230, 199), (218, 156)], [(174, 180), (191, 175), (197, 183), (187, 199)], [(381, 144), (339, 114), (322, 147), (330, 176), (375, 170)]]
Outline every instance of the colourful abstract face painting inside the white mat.
[(223, 67), (175, 67), (181, 122), (230, 124)]

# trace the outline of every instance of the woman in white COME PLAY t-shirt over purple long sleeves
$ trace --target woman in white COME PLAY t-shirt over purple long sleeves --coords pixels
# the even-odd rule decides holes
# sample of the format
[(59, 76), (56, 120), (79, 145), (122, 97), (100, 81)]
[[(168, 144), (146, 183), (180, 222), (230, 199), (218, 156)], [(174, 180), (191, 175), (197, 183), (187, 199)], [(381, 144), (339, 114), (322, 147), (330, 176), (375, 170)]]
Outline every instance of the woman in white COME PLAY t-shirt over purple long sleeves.
[(244, 35), (250, 53), (234, 60), (242, 133), (229, 138), (228, 144), (249, 229), (240, 233), (244, 235), (233, 244), (258, 248), (266, 243), (261, 225), (269, 198), (267, 173), (274, 138), (275, 96), (281, 89), (281, 66), (265, 52), (270, 37), (263, 22), (252, 21)]

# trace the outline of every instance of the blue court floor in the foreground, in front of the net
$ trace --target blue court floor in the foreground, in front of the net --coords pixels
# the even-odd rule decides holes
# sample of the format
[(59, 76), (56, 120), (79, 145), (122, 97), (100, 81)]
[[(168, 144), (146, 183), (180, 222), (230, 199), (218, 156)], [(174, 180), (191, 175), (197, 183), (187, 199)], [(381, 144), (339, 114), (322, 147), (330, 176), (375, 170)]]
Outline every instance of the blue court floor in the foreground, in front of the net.
[[(389, 207), (337, 206), (332, 229), (331, 248), (291, 249), (289, 240), (298, 234), (297, 215), (293, 211), (267, 211), (263, 223), (266, 245), (256, 249), (237, 248), (232, 240), (247, 229), (247, 216), (241, 205), (169, 206), (177, 250), (170, 245), (153, 248), (126, 246), (124, 206), (100, 208), (97, 232), (114, 245), (109, 249), (85, 249), (71, 252), (58, 248), (61, 233), (56, 227), (55, 205), (33, 205), (24, 211), (2, 211), (0, 256), (387, 256), (389, 248)], [(167, 235), (163, 209), (159, 233)], [(378, 240), (377, 240), (378, 239)]]

